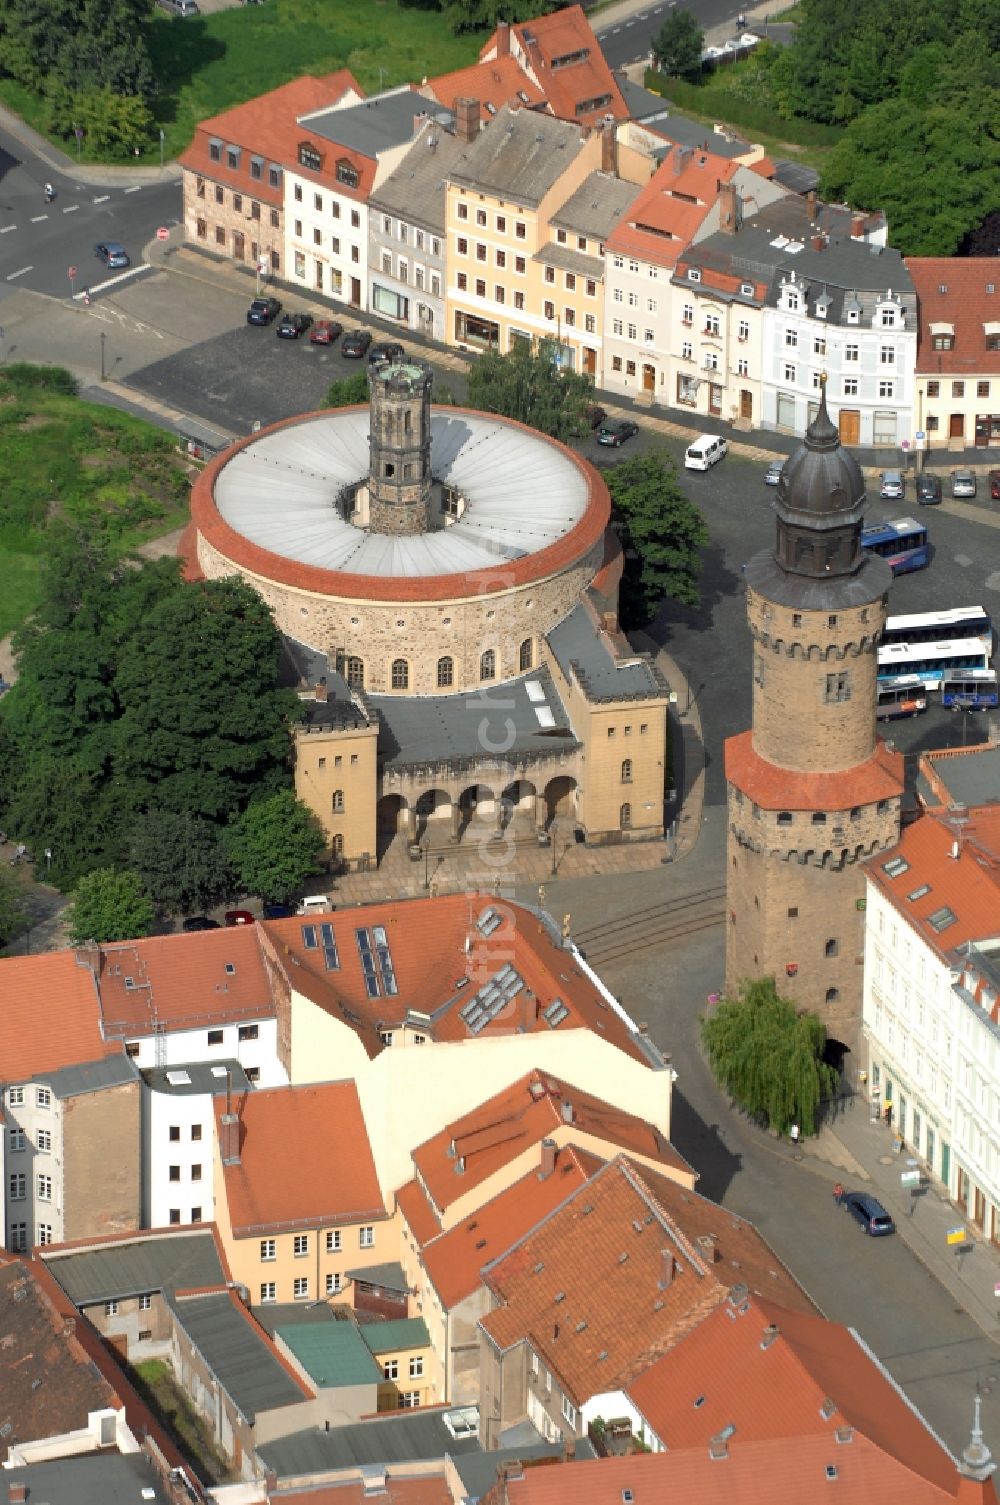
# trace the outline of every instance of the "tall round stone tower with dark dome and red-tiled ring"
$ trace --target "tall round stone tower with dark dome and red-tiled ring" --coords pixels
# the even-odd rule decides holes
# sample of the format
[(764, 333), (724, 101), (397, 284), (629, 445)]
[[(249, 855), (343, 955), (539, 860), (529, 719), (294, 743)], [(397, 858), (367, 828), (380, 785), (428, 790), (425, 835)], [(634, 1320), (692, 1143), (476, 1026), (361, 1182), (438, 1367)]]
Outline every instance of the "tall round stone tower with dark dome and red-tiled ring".
[(774, 548), (745, 566), (753, 727), (726, 742), (726, 992), (774, 977), (857, 1049), (861, 862), (898, 840), (902, 757), (877, 736), (892, 575), (861, 551), (864, 479), (825, 391), (777, 488)]

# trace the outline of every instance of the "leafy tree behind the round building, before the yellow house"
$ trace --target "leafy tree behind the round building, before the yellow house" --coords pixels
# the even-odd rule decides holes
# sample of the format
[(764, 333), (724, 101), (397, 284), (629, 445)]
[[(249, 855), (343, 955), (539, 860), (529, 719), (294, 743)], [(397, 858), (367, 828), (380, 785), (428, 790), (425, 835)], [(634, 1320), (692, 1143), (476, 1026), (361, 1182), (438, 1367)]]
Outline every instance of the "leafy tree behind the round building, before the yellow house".
[(508, 355), (488, 351), (468, 373), (470, 408), (517, 418), (563, 442), (589, 432), (586, 406), (592, 400), (590, 378), (560, 369), (548, 342), (535, 351), (518, 340)]

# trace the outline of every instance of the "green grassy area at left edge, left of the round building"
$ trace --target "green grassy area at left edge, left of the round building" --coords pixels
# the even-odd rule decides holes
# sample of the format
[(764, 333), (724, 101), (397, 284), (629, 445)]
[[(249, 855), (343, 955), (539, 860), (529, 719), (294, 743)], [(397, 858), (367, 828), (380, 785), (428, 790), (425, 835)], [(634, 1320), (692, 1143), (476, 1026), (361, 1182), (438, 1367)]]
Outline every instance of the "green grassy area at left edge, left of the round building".
[(0, 637), (38, 604), (56, 521), (102, 519), (125, 552), (187, 515), (184, 459), (161, 429), (0, 369)]

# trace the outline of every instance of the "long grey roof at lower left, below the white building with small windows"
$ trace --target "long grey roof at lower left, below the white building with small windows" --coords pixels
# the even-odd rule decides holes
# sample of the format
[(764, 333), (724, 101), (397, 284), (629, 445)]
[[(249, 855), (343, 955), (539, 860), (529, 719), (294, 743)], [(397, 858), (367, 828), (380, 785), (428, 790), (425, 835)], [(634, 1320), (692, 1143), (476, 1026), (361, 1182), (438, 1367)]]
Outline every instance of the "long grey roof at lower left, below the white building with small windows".
[(226, 1279), (212, 1234), (200, 1230), (53, 1255), (45, 1264), (75, 1306), (149, 1291), (221, 1285)]

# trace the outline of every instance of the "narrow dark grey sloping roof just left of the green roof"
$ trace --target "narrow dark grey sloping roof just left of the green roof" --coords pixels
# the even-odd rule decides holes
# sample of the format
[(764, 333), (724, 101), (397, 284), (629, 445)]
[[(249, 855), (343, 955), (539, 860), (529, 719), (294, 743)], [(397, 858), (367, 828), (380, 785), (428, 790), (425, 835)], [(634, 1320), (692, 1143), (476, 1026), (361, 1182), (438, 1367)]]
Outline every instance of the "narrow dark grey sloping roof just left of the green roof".
[(173, 1302), (178, 1321), (247, 1421), (307, 1395), (274, 1358), (227, 1291)]

